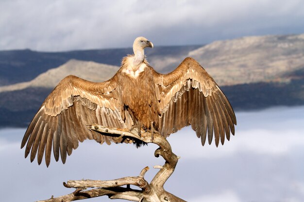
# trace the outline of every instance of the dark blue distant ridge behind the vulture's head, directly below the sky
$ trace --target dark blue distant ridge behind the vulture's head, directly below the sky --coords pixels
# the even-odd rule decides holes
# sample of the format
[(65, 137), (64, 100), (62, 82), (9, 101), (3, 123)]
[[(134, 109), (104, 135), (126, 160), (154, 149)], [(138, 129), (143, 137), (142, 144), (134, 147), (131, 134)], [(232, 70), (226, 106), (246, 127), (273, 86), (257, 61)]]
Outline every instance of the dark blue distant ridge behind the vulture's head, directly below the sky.
[[(161, 71), (168, 66), (159, 66), (161, 63), (154, 65), (153, 58), (164, 56), (183, 58), (189, 51), (198, 47), (201, 46), (154, 47), (153, 49), (147, 49), (146, 54), (155, 69)], [(71, 59), (120, 66), (122, 57), (132, 53), (132, 48), (66, 52), (38, 52), (29, 49), (0, 51), (0, 86), (30, 81), (47, 70), (58, 67)]]

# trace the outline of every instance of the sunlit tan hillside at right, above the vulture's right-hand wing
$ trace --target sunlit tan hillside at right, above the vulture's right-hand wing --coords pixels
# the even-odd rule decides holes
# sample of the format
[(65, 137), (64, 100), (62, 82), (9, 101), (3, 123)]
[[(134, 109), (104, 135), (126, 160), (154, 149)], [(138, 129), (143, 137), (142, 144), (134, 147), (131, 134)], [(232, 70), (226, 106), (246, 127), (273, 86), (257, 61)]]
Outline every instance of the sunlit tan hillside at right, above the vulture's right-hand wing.
[[(288, 82), (304, 69), (304, 34), (216, 41), (190, 51), (220, 85)], [(302, 75), (298, 75), (300, 77)]]

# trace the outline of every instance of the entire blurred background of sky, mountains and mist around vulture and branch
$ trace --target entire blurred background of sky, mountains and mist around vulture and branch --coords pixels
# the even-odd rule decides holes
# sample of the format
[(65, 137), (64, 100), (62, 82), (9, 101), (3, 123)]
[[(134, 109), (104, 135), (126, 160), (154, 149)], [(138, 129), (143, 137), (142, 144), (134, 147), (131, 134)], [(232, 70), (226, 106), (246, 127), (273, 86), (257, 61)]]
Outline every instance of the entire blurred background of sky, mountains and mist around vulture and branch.
[(145, 54), (158, 72), (188, 56), (200, 62), (236, 111), (236, 135), (218, 148), (202, 147), (190, 127), (169, 137), (181, 159), (166, 190), (189, 202), (304, 201), (304, 1), (0, 0), (3, 201), (45, 200), (72, 192), (63, 181), (137, 176), (145, 166), (152, 179), (164, 161), (151, 144), (84, 141), (49, 168), (19, 149), (62, 78), (111, 78), (137, 36), (154, 44)]

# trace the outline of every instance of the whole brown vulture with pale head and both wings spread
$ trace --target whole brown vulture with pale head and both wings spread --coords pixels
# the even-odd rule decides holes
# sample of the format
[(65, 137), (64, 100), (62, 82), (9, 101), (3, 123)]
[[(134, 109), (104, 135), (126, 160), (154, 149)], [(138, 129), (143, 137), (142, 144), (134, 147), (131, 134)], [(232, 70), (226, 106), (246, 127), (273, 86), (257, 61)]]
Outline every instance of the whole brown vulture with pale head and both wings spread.
[(134, 55), (123, 58), (113, 78), (95, 83), (68, 76), (45, 99), (21, 143), (31, 161), (43, 154), (47, 166), (51, 150), (65, 163), (67, 154), (85, 139), (111, 144), (133, 142), (113, 139), (89, 130), (87, 125), (131, 128), (140, 124), (164, 137), (191, 125), (202, 145), (213, 136), (218, 146), (225, 136), (234, 135), (235, 113), (216, 82), (192, 58), (186, 58), (173, 72), (157, 73), (146, 61), (144, 48), (153, 44), (144, 37), (135, 39)]

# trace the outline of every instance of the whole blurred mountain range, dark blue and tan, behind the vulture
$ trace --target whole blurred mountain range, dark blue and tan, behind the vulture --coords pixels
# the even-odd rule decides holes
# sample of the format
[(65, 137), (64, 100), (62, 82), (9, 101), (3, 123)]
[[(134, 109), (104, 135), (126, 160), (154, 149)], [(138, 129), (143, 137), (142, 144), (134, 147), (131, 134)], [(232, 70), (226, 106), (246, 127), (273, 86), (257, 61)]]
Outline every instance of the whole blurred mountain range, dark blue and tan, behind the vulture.
[[(0, 126), (27, 126), (62, 78), (72, 74), (91, 81), (107, 80), (118, 70), (121, 58), (131, 52), (131, 48), (0, 51)], [(146, 54), (161, 73), (172, 71), (187, 56), (193, 57), (215, 78), (236, 110), (304, 105), (304, 34), (158, 47), (147, 49)], [(77, 60), (70, 60), (72, 56)]]

